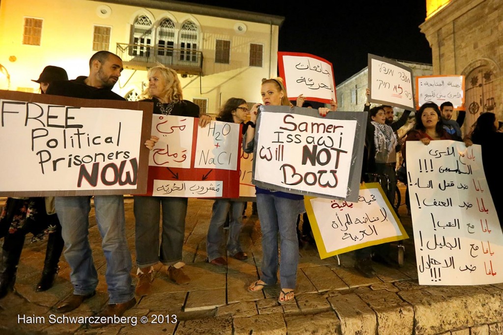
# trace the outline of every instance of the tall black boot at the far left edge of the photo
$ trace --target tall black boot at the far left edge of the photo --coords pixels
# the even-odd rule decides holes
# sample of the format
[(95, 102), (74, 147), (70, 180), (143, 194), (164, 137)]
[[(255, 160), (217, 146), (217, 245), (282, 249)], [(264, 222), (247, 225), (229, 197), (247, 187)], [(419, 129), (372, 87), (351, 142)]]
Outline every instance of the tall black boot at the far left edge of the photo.
[(25, 234), (23, 232), (8, 233), (5, 236), (0, 259), (0, 299), (14, 291), (19, 258), (23, 250)]

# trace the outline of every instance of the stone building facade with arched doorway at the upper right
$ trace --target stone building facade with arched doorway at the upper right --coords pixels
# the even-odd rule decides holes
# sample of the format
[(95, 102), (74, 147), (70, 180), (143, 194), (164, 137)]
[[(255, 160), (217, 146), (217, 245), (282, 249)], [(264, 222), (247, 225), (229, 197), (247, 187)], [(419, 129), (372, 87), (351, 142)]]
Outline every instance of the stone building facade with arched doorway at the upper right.
[(503, 1), (427, 0), (420, 26), (432, 48), (433, 74), (466, 76), (466, 131), (481, 112), (503, 119)]

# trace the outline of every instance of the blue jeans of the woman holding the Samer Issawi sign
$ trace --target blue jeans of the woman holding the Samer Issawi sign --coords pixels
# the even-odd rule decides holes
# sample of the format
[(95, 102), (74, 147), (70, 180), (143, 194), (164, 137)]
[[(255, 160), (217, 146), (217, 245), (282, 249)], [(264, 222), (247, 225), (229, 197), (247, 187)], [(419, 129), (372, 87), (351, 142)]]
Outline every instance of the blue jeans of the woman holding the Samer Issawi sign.
[(280, 283), (282, 288), (294, 289), (297, 284), (299, 242), (297, 216), (304, 212), (303, 200), (291, 200), (269, 194), (257, 194), (262, 230), (262, 277), (267, 285), (278, 281), (278, 233), (281, 238)]

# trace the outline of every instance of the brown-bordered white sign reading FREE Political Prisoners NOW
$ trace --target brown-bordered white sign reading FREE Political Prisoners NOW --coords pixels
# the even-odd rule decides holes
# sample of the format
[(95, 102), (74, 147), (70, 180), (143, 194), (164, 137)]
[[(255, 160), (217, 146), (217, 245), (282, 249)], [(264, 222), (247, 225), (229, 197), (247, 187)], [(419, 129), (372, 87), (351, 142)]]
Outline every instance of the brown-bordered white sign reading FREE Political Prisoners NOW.
[(0, 195), (144, 193), (152, 104), (0, 91)]

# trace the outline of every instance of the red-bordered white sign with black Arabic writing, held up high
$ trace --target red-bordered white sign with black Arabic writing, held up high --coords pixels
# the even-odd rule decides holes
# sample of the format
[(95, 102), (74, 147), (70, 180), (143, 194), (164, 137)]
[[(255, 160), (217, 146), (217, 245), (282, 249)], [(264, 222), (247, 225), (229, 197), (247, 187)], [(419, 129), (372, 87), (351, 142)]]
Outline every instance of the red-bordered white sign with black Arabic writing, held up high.
[(304, 95), (307, 100), (329, 103), (336, 100), (332, 64), (307, 53), (278, 52), (280, 76), (288, 98)]

